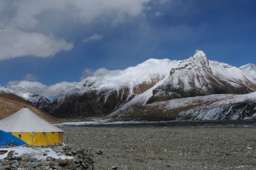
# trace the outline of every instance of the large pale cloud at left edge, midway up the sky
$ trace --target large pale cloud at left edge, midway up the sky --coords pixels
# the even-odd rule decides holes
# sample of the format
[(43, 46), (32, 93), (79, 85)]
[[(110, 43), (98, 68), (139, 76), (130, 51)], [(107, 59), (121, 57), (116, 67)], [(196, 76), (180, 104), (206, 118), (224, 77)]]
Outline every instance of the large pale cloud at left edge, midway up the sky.
[(53, 35), (28, 33), (17, 28), (0, 29), (0, 60), (23, 56), (49, 57), (72, 48), (72, 43)]

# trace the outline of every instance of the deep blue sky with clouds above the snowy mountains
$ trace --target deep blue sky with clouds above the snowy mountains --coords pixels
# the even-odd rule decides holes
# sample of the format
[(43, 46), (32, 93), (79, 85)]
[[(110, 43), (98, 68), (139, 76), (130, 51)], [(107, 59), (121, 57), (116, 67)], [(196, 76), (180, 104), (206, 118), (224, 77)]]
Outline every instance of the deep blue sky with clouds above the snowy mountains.
[(45, 89), (78, 82), (84, 70), (186, 59), (196, 49), (235, 66), (256, 63), (255, 7), (255, 0), (0, 0), (0, 85), (27, 80)]

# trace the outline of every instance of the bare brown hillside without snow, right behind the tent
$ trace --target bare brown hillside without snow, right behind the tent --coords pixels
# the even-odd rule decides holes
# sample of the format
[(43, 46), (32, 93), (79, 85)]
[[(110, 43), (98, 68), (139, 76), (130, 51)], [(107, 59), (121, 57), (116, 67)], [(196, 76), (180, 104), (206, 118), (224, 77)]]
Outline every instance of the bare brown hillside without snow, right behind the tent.
[(47, 120), (51, 123), (56, 123), (57, 120), (55, 117), (39, 110), (30, 102), (26, 101), (25, 99), (17, 96), (13, 93), (5, 93), (0, 91), (0, 119), (3, 119), (7, 116), (10, 116), (12, 113), (19, 111), (21, 108), (27, 107), (31, 111), (41, 116), (43, 119)]

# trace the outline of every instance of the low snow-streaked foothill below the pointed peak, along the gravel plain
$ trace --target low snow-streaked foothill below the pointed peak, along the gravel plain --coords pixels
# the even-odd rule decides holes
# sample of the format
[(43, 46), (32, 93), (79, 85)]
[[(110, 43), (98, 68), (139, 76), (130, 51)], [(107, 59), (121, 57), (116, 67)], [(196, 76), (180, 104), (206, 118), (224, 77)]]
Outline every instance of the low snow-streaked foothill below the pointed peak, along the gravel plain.
[(106, 117), (117, 120), (244, 120), (256, 118), (256, 92), (213, 94), (172, 99), (148, 105), (132, 105)]

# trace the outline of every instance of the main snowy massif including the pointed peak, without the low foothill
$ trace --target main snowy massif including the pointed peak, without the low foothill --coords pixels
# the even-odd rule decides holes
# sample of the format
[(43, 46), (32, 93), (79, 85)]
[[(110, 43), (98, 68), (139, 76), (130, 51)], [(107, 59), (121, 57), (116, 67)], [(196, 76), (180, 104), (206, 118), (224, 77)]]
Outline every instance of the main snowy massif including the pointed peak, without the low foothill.
[(256, 91), (250, 71), (208, 60), (197, 50), (185, 60), (148, 59), (125, 70), (87, 77), (67, 88), (50, 104), (55, 116), (110, 114), (131, 105), (210, 94)]

